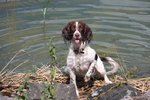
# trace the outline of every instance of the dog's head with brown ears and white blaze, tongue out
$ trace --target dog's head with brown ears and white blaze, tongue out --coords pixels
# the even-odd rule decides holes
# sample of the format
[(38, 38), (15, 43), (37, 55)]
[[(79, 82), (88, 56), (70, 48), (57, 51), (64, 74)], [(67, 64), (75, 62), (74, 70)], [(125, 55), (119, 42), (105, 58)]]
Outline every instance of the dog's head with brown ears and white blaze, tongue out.
[(62, 30), (65, 41), (73, 44), (89, 43), (92, 39), (92, 31), (88, 25), (82, 21), (71, 21)]

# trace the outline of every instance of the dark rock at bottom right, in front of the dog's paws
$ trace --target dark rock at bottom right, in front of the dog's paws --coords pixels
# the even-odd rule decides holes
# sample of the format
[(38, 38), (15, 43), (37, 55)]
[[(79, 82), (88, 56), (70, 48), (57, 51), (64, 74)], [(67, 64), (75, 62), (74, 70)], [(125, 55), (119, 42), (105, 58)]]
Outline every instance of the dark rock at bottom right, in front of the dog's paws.
[[(128, 84), (109, 84), (91, 93), (89, 100), (120, 100), (126, 96), (137, 96), (140, 93)], [(131, 99), (132, 100), (132, 99)]]

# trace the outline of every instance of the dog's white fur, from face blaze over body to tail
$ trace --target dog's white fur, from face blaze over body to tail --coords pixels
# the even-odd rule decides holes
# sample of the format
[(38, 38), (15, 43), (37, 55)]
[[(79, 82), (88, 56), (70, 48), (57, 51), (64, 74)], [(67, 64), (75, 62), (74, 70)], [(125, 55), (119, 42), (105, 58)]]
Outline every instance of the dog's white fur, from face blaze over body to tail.
[[(81, 38), (82, 35), (78, 30), (78, 22), (76, 22), (75, 25), (76, 29), (73, 33), (73, 39), (77, 38), (76, 34), (79, 35), (78, 38)], [(78, 54), (74, 52), (74, 48), (79, 48)], [(95, 56), (97, 56), (97, 59), (95, 59)], [(84, 77), (84, 81), (87, 82), (90, 80), (90, 77), (94, 75), (96, 77), (104, 77), (106, 84), (112, 83), (107, 75), (115, 73), (119, 65), (110, 57), (106, 57), (106, 59), (113, 67), (113, 70), (109, 72), (106, 72), (100, 57), (97, 55), (96, 51), (89, 46), (88, 42), (80, 41), (80, 43), (75, 43), (71, 40), (67, 57), (67, 69), (70, 75), (70, 82), (75, 85), (76, 95), (78, 97), (79, 93), (76, 85), (76, 76)]]

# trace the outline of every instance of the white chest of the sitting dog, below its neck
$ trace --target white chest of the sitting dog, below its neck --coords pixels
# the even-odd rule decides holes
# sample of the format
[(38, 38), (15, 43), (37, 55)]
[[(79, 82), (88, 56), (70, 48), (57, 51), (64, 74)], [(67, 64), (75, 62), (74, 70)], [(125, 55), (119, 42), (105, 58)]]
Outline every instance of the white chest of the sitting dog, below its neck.
[(85, 75), (88, 71), (90, 64), (93, 62), (95, 52), (88, 52), (89, 48), (83, 54), (75, 55), (70, 51), (67, 58), (67, 65), (77, 74)]

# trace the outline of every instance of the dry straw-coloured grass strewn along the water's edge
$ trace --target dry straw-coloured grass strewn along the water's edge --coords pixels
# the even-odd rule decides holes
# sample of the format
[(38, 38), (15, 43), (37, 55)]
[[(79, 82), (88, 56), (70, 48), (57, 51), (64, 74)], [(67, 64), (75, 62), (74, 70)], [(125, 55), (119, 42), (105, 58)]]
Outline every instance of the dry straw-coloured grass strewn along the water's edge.
[[(55, 75), (52, 76), (51, 66), (43, 65), (41, 68), (37, 68), (35, 72), (31, 73), (3, 73), (0, 74), (0, 92), (3, 96), (18, 96), (18, 88), (26, 81), (27, 83), (60, 83), (68, 84), (68, 77), (60, 72), (59, 69), (56, 70)], [(53, 79), (52, 79), (53, 78)], [(26, 80), (27, 79), (27, 80)], [(141, 94), (144, 94), (146, 91), (150, 90), (150, 77), (145, 78), (135, 78), (135, 79), (126, 79), (118, 75), (110, 77), (113, 83), (122, 84), (127, 83), (133, 86)], [(79, 92), (80, 95), (88, 95), (97, 88), (100, 88), (105, 85), (103, 80), (94, 80), (92, 87), (84, 87), (83, 82), (79, 82)]]

